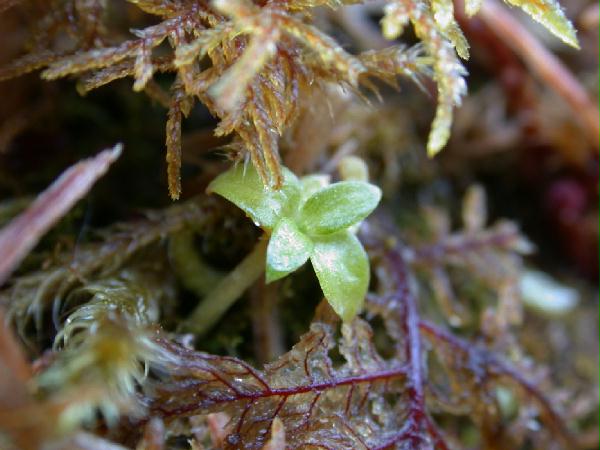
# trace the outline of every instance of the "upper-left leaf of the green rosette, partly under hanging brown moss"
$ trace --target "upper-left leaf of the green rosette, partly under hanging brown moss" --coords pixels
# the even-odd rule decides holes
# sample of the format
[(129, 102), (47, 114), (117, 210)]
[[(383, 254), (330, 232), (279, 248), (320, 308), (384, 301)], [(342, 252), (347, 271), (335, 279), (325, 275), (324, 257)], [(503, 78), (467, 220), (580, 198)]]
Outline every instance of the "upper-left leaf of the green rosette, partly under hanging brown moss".
[(263, 185), (252, 165), (238, 164), (215, 178), (207, 192), (215, 192), (243, 209), (257, 225), (273, 229), (283, 215), (292, 212), (300, 199), (300, 182), (283, 169), (283, 186), (273, 190)]

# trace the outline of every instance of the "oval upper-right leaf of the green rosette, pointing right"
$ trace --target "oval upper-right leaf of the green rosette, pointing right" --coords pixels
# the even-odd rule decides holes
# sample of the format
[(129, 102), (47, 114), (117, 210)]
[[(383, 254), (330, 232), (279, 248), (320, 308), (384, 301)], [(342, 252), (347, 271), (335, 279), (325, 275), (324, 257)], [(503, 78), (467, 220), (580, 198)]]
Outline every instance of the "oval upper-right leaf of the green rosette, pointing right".
[(335, 233), (371, 214), (380, 199), (377, 186), (341, 181), (313, 194), (300, 208), (298, 224), (310, 235)]

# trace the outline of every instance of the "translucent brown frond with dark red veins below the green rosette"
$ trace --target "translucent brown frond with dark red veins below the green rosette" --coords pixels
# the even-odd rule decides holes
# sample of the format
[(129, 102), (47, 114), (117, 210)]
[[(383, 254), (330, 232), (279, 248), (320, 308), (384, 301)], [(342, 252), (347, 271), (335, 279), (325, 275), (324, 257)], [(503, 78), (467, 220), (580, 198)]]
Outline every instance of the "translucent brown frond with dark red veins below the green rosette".
[(300, 342), (263, 370), (163, 342), (177, 361), (167, 365), (167, 378), (147, 386), (151, 414), (170, 420), (224, 412), (230, 418), (225, 449), (280, 448), (278, 420), (287, 449), (367, 450), (407, 440), (401, 407), (387, 403), (405, 388), (402, 362), (381, 358), (369, 325), (357, 318), (342, 327), (344, 363), (334, 366), (335, 315), (326, 303), (317, 314)]

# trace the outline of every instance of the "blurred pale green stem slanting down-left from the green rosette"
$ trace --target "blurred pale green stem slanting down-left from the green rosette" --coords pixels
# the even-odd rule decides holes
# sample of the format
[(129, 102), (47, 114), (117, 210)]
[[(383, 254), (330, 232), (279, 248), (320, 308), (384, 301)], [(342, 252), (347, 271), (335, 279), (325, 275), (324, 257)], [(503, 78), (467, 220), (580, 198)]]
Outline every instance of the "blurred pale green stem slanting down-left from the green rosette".
[(246, 289), (265, 271), (268, 239), (262, 239), (244, 258), (210, 291), (202, 303), (183, 324), (184, 331), (197, 335), (206, 333), (225, 312), (241, 297)]

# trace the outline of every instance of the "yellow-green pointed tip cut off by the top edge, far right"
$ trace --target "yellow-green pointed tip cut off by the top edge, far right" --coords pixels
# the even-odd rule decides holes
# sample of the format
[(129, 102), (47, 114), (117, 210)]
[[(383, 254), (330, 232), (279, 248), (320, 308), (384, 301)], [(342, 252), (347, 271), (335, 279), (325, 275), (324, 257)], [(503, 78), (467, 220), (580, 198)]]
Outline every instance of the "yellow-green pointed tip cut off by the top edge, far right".
[(505, 0), (509, 5), (518, 6), (533, 20), (541, 23), (548, 31), (561, 39), (565, 44), (579, 48), (575, 28), (566, 18), (560, 4), (556, 0)]

